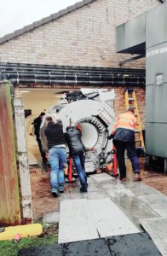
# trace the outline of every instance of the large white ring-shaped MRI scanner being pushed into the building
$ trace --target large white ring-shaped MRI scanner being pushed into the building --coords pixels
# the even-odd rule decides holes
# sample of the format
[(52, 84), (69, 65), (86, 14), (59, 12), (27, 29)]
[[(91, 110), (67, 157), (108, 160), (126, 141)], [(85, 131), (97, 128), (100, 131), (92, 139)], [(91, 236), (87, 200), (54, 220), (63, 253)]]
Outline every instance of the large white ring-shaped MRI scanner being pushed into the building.
[[(61, 106), (55, 105), (49, 109), (48, 113), (48, 115), (56, 114), (56, 119), (62, 121), (65, 132), (70, 122), (73, 125), (81, 126), (82, 141), (85, 148), (88, 149), (85, 155), (86, 172), (95, 172), (100, 169), (101, 161), (106, 159), (108, 152), (112, 151), (112, 142), (107, 142), (107, 136), (112, 131), (112, 125), (115, 119), (112, 107), (115, 93), (113, 90), (110, 92), (99, 91), (101, 97), (97, 100), (84, 98)], [(47, 149), (46, 137), (43, 133), (44, 128), (45, 124), (43, 121), (41, 138), (43, 148)], [(108, 162), (110, 161), (109, 158), (107, 160)]]

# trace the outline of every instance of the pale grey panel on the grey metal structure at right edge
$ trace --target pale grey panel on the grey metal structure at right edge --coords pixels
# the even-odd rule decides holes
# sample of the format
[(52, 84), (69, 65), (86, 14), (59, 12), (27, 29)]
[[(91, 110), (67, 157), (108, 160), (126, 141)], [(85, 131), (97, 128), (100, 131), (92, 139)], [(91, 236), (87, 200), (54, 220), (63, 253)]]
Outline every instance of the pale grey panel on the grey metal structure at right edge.
[(159, 73), (164, 74), (164, 83), (167, 82), (167, 42), (158, 44), (147, 49), (149, 56), (146, 58), (147, 78), (146, 84), (154, 84), (155, 76)]

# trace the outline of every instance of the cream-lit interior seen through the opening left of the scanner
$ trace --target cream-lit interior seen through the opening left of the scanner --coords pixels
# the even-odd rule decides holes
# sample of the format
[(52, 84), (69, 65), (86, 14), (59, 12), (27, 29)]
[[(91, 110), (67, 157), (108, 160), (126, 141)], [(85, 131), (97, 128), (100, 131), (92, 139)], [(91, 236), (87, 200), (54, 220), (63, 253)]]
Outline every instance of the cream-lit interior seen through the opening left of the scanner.
[(42, 164), (42, 157), (39, 152), (36, 137), (33, 136), (32, 132), (32, 122), (34, 119), (37, 118), (37, 116), (39, 116), (41, 112), (47, 113), (49, 111), (49, 108), (59, 102), (62, 96), (62, 91), (64, 92), (68, 90), (32, 88), (19, 89), (26, 113), (26, 143), (29, 165)]

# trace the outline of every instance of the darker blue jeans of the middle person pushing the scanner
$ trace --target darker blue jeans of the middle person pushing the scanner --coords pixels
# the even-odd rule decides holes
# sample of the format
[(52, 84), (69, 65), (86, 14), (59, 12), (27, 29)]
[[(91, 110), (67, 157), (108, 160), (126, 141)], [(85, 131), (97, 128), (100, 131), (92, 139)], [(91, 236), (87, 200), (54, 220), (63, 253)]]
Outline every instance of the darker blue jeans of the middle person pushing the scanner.
[(83, 189), (87, 189), (87, 176), (84, 168), (85, 156), (83, 152), (79, 154), (72, 154), (73, 163), (78, 172), (78, 178)]

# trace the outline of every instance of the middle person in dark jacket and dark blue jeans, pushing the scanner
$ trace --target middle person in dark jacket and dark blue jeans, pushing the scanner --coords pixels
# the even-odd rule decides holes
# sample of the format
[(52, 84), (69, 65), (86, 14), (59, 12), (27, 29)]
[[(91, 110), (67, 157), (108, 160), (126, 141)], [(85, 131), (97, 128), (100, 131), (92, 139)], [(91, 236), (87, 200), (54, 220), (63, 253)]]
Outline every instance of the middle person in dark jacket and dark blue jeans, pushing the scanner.
[(81, 183), (80, 191), (82, 193), (87, 193), (87, 176), (85, 172), (84, 162), (85, 162), (85, 147), (81, 140), (82, 133), (80, 130), (76, 129), (75, 126), (66, 127), (66, 144), (70, 150), (70, 155), (72, 156), (73, 163), (78, 172), (78, 178)]

